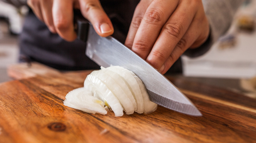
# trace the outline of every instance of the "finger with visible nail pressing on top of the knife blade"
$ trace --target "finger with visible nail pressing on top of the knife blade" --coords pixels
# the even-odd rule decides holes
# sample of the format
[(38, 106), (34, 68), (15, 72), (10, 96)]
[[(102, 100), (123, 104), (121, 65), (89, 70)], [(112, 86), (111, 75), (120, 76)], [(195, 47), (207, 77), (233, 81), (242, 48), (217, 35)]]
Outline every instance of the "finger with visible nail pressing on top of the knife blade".
[(99, 36), (107, 37), (114, 33), (113, 25), (98, 0), (79, 0), (80, 10), (93, 25)]

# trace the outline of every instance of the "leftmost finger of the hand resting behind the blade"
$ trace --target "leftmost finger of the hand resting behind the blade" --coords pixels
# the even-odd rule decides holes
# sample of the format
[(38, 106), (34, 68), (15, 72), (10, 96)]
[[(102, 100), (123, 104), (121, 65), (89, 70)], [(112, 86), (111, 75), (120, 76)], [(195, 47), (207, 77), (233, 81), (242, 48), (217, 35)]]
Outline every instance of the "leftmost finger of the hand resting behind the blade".
[(137, 33), (137, 30), (139, 28), (139, 25), (140, 25), (140, 23), (143, 19), (143, 16), (151, 2), (152, 2), (152, 0), (151, 1), (150, 0), (144, 0), (144, 1), (142, 0), (139, 2), (137, 7), (135, 8), (132, 22), (130, 24), (129, 31), (128, 31), (126, 40), (124, 42), (124, 45), (130, 49), (132, 49), (133, 41), (134, 41), (135, 35)]

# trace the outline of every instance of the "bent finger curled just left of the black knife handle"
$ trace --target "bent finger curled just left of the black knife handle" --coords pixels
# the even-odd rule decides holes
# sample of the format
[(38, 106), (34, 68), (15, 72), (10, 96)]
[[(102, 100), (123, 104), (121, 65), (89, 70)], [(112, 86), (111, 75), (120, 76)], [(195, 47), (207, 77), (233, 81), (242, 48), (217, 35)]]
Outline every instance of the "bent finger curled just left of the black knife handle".
[(67, 41), (76, 39), (73, 24), (73, 1), (54, 0), (53, 1), (53, 24), (60, 37)]

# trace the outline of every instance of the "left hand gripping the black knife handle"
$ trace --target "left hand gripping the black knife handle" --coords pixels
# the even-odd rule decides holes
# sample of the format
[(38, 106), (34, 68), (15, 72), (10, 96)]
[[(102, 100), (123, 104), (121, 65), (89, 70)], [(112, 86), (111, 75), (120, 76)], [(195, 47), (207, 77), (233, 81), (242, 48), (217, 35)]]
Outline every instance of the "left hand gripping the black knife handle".
[(98, 0), (28, 0), (27, 4), (49, 30), (67, 41), (76, 39), (74, 11), (80, 9), (98, 35), (106, 37), (114, 32), (113, 25)]

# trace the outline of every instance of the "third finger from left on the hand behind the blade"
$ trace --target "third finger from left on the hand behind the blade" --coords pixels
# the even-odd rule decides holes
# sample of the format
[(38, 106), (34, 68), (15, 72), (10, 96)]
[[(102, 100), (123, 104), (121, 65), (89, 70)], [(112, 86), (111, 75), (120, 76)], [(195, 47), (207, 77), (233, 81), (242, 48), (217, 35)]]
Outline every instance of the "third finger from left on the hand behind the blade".
[(153, 67), (160, 70), (163, 63), (187, 31), (195, 14), (195, 7), (191, 5), (190, 1), (182, 1), (178, 5), (163, 26), (152, 51), (146, 59)]

